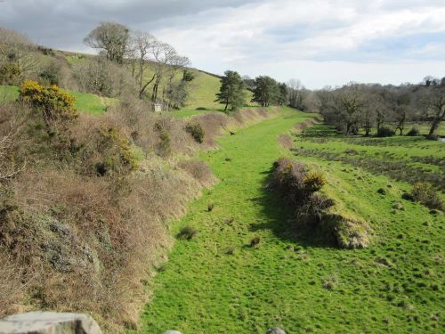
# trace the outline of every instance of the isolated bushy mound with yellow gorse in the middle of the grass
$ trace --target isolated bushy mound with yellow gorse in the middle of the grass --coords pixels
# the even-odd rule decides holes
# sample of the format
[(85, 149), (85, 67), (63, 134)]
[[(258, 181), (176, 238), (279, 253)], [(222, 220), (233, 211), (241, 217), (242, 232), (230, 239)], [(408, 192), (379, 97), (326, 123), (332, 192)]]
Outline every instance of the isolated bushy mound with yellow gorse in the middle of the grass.
[(315, 232), (325, 240), (334, 237), (342, 248), (367, 247), (368, 224), (341, 212), (336, 201), (321, 192), (327, 182), (320, 172), (293, 159), (280, 158), (273, 164), (270, 185), (285, 205), (295, 209), (292, 222), (298, 230)]

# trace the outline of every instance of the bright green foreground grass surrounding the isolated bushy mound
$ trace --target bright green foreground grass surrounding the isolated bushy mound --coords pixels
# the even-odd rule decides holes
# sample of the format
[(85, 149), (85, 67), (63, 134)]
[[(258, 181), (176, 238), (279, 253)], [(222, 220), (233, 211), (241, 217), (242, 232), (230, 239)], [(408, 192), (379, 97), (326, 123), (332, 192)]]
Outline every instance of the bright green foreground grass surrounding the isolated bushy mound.
[[(291, 212), (263, 184), (272, 162), (291, 155), (279, 147), (278, 134), (308, 117), (285, 110), (201, 155), (221, 182), (174, 224), (173, 235), (191, 226), (198, 236), (176, 241), (150, 286), (141, 332), (264, 333), (277, 325), (289, 333), (443, 330), (444, 222), (407, 201), (394, 212), (392, 202), (409, 184), (341, 161), (298, 157), (321, 169), (326, 191), (360, 212), (375, 233), (371, 247), (344, 250), (289, 229)], [(380, 187), (386, 195), (377, 193)], [(255, 236), (259, 248), (248, 246)], [(336, 281), (334, 289), (326, 281)]]

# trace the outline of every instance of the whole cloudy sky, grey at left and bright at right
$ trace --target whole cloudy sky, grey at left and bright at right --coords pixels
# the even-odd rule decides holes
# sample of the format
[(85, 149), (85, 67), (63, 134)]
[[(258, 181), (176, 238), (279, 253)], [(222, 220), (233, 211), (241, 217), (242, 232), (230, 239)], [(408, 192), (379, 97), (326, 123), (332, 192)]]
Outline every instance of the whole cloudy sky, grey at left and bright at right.
[(445, 77), (445, 0), (2, 0), (0, 27), (94, 53), (101, 21), (148, 31), (193, 67), (304, 86)]

